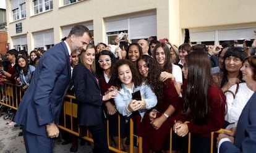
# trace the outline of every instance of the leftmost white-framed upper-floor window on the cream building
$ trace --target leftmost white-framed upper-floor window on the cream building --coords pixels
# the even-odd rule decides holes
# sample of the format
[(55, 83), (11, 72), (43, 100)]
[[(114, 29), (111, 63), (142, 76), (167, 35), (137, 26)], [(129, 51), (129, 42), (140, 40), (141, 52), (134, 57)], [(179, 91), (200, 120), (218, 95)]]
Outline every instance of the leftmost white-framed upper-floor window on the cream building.
[(12, 0), (12, 20), (19, 20), (26, 17), (25, 0)]

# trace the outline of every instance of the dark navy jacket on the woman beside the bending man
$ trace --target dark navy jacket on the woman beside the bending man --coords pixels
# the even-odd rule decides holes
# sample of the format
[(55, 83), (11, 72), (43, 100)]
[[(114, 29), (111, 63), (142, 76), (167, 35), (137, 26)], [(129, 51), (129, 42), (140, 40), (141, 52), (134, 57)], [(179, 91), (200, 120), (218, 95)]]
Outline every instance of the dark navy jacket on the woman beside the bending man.
[(72, 80), (78, 104), (77, 119), (79, 125), (99, 125), (104, 117), (101, 96), (103, 93), (96, 80), (96, 75), (79, 64), (73, 70)]

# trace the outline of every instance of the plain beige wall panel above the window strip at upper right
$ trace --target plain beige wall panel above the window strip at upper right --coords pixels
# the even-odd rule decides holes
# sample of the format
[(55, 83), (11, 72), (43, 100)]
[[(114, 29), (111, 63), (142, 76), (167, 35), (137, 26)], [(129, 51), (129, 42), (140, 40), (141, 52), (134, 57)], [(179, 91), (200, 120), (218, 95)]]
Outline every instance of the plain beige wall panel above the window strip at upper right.
[(256, 25), (255, 6), (255, 0), (182, 0), (181, 28)]

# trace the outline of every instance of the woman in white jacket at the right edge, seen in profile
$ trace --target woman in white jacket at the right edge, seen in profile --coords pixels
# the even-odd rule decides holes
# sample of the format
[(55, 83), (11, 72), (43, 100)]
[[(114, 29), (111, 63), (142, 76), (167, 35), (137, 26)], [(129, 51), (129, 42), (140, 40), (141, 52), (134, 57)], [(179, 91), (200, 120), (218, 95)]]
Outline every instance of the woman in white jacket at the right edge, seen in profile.
[(228, 107), (225, 120), (229, 130), (237, 125), (242, 109), (256, 91), (256, 56), (245, 57), (240, 70), (245, 83), (235, 84), (225, 92)]

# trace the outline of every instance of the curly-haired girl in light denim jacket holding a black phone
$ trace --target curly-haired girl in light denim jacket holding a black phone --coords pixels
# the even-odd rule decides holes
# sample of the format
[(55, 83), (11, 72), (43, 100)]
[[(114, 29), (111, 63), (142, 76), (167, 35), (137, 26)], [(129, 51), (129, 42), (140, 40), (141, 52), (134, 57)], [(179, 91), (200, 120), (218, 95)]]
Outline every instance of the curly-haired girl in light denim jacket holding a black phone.
[[(142, 77), (129, 60), (117, 60), (113, 67), (112, 77), (118, 91), (118, 95), (114, 98), (116, 109), (127, 118), (127, 128), (129, 128), (129, 118), (132, 117), (135, 126), (134, 134), (142, 134), (141, 125), (144, 114), (147, 110), (155, 107), (157, 103), (155, 93), (150, 86), (142, 82)], [(132, 93), (135, 91), (140, 91), (141, 99), (132, 99)], [(126, 143), (129, 144), (129, 139), (127, 140)], [(138, 147), (134, 147), (134, 149), (138, 151)]]

